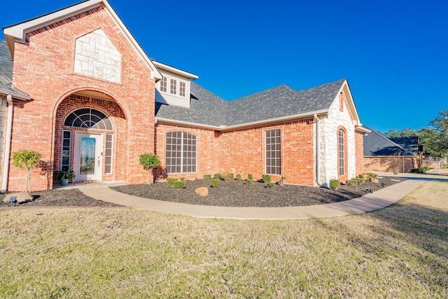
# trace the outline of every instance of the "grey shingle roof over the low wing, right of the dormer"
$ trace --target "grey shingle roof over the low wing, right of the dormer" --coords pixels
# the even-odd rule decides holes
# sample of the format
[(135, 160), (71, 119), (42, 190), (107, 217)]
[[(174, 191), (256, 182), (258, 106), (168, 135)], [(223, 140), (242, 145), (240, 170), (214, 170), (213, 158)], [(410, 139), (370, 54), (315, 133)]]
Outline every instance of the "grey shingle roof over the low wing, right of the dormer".
[(328, 112), (345, 83), (346, 80), (342, 79), (301, 91), (280, 85), (226, 102), (191, 82), (190, 108), (157, 104), (155, 116), (158, 120), (221, 128), (312, 116)]

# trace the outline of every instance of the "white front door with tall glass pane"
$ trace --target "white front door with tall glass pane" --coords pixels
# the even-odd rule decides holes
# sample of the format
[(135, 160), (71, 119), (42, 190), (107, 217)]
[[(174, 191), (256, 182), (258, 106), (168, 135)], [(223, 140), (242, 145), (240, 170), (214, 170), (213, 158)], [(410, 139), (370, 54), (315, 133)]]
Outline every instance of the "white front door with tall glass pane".
[(99, 134), (75, 133), (74, 181), (101, 181), (103, 137)]

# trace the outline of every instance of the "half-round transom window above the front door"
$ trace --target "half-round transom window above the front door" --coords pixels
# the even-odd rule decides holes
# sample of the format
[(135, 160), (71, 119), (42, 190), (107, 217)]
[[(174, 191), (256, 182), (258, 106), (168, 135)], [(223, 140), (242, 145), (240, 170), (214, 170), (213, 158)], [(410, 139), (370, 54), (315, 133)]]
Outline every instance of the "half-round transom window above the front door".
[(64, 125), (85, 129), (113, 130), (111, 120), (101, 111), (92, 108), (81, 108), (73, 111), (64, 120)]

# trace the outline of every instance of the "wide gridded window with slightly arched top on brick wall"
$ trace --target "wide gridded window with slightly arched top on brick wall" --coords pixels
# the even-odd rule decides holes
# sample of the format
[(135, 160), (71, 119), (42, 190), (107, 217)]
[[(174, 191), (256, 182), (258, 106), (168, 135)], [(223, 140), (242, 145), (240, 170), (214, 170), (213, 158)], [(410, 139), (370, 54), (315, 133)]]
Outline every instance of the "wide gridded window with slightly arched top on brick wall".
[(166, 150), (167, 173), (196, 172), (197, 137), (188, 132), (168, 132)]

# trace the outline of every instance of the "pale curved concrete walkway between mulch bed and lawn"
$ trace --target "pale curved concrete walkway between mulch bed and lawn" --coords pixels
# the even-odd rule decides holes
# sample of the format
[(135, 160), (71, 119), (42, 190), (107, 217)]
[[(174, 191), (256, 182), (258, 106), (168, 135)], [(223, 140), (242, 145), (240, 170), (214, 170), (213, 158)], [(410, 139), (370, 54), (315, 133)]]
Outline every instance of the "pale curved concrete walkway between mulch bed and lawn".
[(377, 190), (374, 193), (345, 202), (318, 204), (306, 207), (214, 207), (196, 204), (181, 204), (160, 200), (148, 200), (111, 190), (106, 186), (98, 188), (80, 188), (85, 195), (104, 202), (113, 202), (126, 207), (158, 211), (166, 214), (193, 216), (197, 218), (230, 218), (230, 219), (306, 219), (335, 217), (351, 214), (362, 214), (388, 207), (405, 197), (424, 183), (424, 180), (410, 179), (395, 185)]

